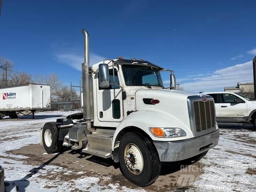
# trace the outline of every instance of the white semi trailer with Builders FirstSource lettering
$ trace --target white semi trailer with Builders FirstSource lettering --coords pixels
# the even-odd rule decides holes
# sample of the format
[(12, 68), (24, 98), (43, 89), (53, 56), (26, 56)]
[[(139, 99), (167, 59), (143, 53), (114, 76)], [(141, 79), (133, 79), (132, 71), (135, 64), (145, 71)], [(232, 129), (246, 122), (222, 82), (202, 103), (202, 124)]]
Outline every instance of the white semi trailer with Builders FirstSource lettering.
[(50, 86), (25, 84), (0, 88), (0, 119), (18, 118), (23, 111), (34, 112), (50, 108)]

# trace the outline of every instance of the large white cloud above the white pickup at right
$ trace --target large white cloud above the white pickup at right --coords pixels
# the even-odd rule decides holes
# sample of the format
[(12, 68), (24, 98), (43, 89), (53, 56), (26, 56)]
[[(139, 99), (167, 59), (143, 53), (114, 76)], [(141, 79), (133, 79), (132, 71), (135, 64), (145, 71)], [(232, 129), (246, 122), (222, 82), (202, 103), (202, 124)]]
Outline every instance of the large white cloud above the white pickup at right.
[(193, 82), (181, 84), (189, 91), (223, 91), (224, 87), (236, 86), (237, 82), (252, 82), (252, 61), (214, 71), (211, 75), (194, 78)]

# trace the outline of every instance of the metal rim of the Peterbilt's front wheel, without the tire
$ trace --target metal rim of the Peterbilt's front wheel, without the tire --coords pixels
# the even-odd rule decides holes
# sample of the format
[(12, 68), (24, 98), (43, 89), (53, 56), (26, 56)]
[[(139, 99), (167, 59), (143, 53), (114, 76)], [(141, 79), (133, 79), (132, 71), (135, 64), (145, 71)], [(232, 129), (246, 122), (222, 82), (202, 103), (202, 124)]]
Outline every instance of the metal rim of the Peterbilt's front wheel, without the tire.
[(124, 160), (127, 168), (132, 174), (140, 174), (143, 170), (144, 162), (140, 149), (132, 143), (126, 145), (124, 149)]

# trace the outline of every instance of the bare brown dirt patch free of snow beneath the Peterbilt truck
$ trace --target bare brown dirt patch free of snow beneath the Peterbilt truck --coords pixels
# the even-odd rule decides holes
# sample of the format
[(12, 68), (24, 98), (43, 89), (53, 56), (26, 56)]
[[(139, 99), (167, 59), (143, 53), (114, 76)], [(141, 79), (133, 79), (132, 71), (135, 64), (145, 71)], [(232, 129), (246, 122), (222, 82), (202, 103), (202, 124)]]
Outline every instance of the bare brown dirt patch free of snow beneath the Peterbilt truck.
[[(69, 181), (74, 178), (80, 178), (82, 175), (94, 176), (100, 178), (99, 184), (102, 186), (108, 186), (111, 183), (118, 182), (120, 187), (126, 186), (128, 188), (143, 189), (150, 192), (166, 192), (175, 189), (183, 191), (187, 187), (191, 187), (188, 182), (198, 180), (199, 176), (204, 172), (204, 168), (200, 162), (194, 162), (190, 165), (162, 164), (161, 174), (156, 182), (150, 186), (139, 188), (126, 180), (119, 169), (119, 164), (114, 164), (111, 159), (103, 159), (75, 150), (66, 150), (58, 154), (46, 154), (43, 146), (40, 144), (24, 146), (18, 150), (8, 151), (7, 154), (28, 156), (29, 158), (20, 160), (27, 164), (38, 166), (39, 169), (43, 169), (44, 166), (50, 164), (68, 168), (74, 173), (85, 172), (71, 175), (65, 173), (55, 173), (55, 175), (52, 175), (49, 172), (47, 175), (44, 175), (46, 179), (54, 179), (54, 177), (61, 176), (61, 180)], [(106, 180), (105, 178), (111, 179)]]

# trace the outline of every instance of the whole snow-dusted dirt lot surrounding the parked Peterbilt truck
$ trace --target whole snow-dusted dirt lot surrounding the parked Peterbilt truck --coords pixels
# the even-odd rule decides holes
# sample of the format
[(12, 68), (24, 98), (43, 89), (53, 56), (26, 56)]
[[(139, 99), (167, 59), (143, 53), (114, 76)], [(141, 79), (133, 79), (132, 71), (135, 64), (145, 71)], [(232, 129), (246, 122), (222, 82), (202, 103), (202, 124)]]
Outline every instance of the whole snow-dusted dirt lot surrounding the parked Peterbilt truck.
[(0, 165), (6, 191), (256, 191), (256, 130), (220, 125), (220, 142), (198, 162), (163, 164), (151, 186), (128, 182), (111, 159), (79, 151), (47, 154), (39, 129), (73, 112), (40, 112), (35, 118), (0, 121)]

